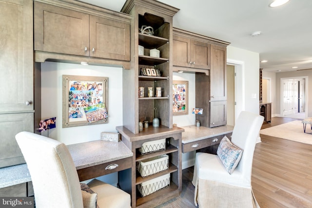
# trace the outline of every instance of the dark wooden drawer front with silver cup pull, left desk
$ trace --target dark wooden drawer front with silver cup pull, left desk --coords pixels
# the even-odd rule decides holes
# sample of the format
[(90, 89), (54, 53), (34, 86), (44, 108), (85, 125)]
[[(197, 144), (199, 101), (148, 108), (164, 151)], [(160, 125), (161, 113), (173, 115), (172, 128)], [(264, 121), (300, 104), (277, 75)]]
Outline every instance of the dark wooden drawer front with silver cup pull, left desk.
[[(79, 181), (85, 181), (91, 178), (96, 178), (98, 176), (129, 169), (132, 167), (132, 161), (133, 157), (127, 157), (124, 159), (111, 161), (84, 169), (79, 169), (77, 170)], [(116, 166), (115, 164), (117, 164), (118, 166)]]

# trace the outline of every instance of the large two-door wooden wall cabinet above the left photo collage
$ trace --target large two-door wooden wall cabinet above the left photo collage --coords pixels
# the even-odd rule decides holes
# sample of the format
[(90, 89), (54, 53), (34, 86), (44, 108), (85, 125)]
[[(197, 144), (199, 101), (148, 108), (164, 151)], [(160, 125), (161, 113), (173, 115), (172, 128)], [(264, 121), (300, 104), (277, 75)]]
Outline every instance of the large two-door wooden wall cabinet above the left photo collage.
[(82, 2), (53, 2), (53, 5), (45, 2), (34, 2), (35, 61), (43, 62), (42, 58), (112, 64), (119, 62), (109, 60), (130, 61), (130, 17), (126, 14), (103, 8), (98, 12), (98, 7)]

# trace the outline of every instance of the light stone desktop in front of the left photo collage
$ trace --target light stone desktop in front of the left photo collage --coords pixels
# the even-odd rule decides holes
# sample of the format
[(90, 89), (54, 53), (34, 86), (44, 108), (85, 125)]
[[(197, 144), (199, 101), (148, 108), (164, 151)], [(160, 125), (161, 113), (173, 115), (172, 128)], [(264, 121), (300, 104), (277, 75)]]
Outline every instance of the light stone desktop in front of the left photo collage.
[(77, 170), (133, 156), (132, 151), (122, 141), (96, 140), (67, 145), (67, 148)]

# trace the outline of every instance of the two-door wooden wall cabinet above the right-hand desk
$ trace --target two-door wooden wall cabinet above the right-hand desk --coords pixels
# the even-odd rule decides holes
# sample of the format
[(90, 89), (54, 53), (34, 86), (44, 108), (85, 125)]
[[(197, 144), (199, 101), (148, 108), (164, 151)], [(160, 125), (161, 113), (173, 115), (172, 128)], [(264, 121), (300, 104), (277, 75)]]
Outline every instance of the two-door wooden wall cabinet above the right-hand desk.
[(173, 65), (199, 69), (210, 69), (210, 44), (173, 36)]

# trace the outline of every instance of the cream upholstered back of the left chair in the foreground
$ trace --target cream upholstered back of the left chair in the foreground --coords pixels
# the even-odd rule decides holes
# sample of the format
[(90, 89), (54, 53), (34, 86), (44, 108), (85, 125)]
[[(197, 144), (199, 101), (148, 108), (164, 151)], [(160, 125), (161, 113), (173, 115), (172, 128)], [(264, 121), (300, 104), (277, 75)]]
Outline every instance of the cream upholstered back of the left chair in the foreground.
[(37, 208), (82, 208), (78, 173), (65, 144), (31, 132), (15, 136), (33, 182)]

